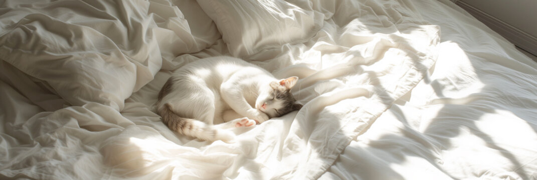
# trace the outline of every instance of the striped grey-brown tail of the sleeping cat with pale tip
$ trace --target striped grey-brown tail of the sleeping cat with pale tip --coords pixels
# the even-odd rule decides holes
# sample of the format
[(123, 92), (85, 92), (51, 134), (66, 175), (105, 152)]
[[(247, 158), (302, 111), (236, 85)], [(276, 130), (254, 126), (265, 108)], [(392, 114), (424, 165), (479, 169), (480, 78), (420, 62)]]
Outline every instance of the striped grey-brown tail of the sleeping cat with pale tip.
[(213, 125), (196, 119), (180, 117), (171, 110), (168, 103), (158, 108), (157, 112), (161, 115), (164, 124), (180, 134), (208, 141), (222, 140), (228, 143), (235, 141), (235, 134), (231, 131), (217, 129)]

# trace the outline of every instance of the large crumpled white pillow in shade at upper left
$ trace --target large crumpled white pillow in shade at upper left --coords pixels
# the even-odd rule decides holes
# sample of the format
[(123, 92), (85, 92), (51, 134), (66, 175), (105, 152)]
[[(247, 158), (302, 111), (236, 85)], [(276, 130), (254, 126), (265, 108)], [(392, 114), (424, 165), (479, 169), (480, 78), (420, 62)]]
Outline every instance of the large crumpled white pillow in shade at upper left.
[[(178, 7), (159, 2), (8, 4), (10, 11), (0, 14), (0, 60), (45, 81), (71, 105), (96, 102), (121, 110), (125, 99), (153, 80), (163, 59), (219, 38), (214, 25), (208, 31), (215, 37), (193, 37)], [(211, 27), (206, 21), (197, 25)]]

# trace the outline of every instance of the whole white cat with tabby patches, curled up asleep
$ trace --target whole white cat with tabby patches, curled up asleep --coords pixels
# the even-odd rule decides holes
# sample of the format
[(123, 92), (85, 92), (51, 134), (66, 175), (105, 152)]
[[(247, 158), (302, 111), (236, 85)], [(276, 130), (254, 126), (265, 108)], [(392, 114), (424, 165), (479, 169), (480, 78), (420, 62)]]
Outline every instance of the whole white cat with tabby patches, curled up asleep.
[[(278, 80), (256, 65), (234, 57), (211, 57), (188, 63), (158, 93), (157, 113), (164, 124), (186, 136), (233, 142), (230, 127), (253, 126), (299, 110), (289, 92), (297, 77)], [(255, 107), (255, 108), (254, 108)], [(226, 123), (223, 112), (239, 117)], [(232, 112), (233, 112), (232, 111)]]

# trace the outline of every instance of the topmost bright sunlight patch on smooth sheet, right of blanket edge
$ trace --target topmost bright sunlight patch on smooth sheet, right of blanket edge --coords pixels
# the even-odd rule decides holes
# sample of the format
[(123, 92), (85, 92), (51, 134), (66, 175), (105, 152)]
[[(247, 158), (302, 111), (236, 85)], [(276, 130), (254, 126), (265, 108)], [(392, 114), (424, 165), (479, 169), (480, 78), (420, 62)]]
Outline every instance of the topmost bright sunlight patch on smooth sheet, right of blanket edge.
[(416, 105), (467, 104), (478, 99), (485, 84), (478, 78), (470, 58), (459, 44), (445, 41), (439, 45), (439, 56), (427, 74), (412, 89), (409, 102)]

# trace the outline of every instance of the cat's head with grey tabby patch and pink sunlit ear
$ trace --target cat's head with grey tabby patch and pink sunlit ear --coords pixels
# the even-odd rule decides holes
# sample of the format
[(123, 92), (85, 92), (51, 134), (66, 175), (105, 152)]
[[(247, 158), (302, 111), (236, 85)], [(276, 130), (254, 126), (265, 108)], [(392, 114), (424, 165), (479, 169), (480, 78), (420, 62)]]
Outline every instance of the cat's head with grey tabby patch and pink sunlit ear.
[(280, 81), (272, 81), (268, 88), (260, 91), (256, 100), (256, 109), (273, 118), (302, 108), (302, 104), (297, 104), (291, 94), (291, 88), (297, 80), (299, 80), (298, 77), (290, 77)]

